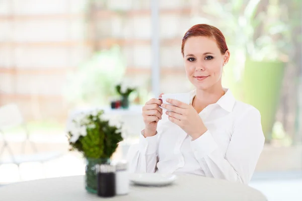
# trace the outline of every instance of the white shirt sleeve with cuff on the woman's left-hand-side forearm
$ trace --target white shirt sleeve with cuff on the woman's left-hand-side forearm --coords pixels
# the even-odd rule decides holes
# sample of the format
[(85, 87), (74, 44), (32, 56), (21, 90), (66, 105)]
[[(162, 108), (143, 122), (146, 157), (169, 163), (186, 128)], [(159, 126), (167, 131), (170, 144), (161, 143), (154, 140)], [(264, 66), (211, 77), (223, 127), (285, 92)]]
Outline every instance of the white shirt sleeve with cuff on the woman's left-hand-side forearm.
[(130, 172), (153, 173), (156, 171), (158, 161), (158, 134), (152, 137), (143, 137), (143, 131), (139, 135), (139, 143), (132, 145), (127, 154), (128, 168)]

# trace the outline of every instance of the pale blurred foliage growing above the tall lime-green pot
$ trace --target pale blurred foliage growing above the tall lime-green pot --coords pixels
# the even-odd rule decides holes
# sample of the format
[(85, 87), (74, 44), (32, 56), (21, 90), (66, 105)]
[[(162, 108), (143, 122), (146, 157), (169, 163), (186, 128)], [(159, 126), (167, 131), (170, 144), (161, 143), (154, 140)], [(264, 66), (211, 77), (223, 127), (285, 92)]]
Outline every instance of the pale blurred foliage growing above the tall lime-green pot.
[(263, 0), (211, 0), (202, 7), (209, 22), (224, 33), (230, 49), (257, 61), (287, 58), (290, 32), (281, 9), (278, 0), (267, 5)]

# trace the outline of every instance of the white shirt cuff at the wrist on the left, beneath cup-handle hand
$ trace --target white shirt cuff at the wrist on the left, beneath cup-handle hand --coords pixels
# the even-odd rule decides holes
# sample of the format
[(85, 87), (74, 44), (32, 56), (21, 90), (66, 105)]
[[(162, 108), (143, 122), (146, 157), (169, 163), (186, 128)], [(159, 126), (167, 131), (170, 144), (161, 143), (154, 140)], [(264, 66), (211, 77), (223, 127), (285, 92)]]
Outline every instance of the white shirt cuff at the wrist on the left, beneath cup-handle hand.
[(157, 152), (157, 141), (158, 135), (157, 132), (154, 136), (151, 137), (144, 137), (144, 130), (140, 132), (139, 136), (139, 152), (141, 154), (149, 155), (155, 154)]

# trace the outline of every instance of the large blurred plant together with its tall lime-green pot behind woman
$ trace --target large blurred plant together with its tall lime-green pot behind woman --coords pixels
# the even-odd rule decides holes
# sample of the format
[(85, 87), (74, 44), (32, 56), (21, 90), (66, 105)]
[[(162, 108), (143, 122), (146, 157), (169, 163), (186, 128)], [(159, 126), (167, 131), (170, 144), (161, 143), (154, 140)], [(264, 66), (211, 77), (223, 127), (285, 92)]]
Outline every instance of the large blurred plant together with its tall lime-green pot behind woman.
[(233, 55), (224, 69), (224, 80), (238, 99), (260, 111), (263, 132), (269, 141), (288, 60), (286, 41), (290, 36), (280, 5), (262, 0), (208, 1), (202, 9), (208, 14), (202, 21), (224, 33)]

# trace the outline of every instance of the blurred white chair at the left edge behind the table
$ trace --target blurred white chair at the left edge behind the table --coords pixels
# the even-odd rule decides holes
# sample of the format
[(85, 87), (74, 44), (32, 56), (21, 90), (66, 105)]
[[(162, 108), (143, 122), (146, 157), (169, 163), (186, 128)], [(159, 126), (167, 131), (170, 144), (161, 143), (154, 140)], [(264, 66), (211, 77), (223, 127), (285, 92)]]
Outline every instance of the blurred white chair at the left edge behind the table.
[[(4, 130), (14, 128), (14, 127), (22, 127), (24, 134), (26, 135), (25, 140), (22, 142), (21, 154), (14, 155), (9, 143), (5, 139)], [(22, 114), (16, 104), (8, 104), (0, 107), (0, 135), (3, 138), (3, 147), (0, 151), (0, 165), (14, 163), (18, 165), (18, 169), (21, 163), (24, 162), (41, 162), (42, 165), (44, 162), (49, 161), (51, 159), (55, 159), (62, 155), (61, 152), (43, 152), (39, 153), (35, 146), (35, 143), (30, 140), (30, 135), (28, 129), (26, 127), (26, 123), (22, 117)], [(34, 154), (25, 154), (25, 146), (27, 142), (33, 149)], [(2, 158), (2, 154), (5, 149), (10, 153), (10, 157)], [(20, 171), (19, 171), (20, 173)]]

